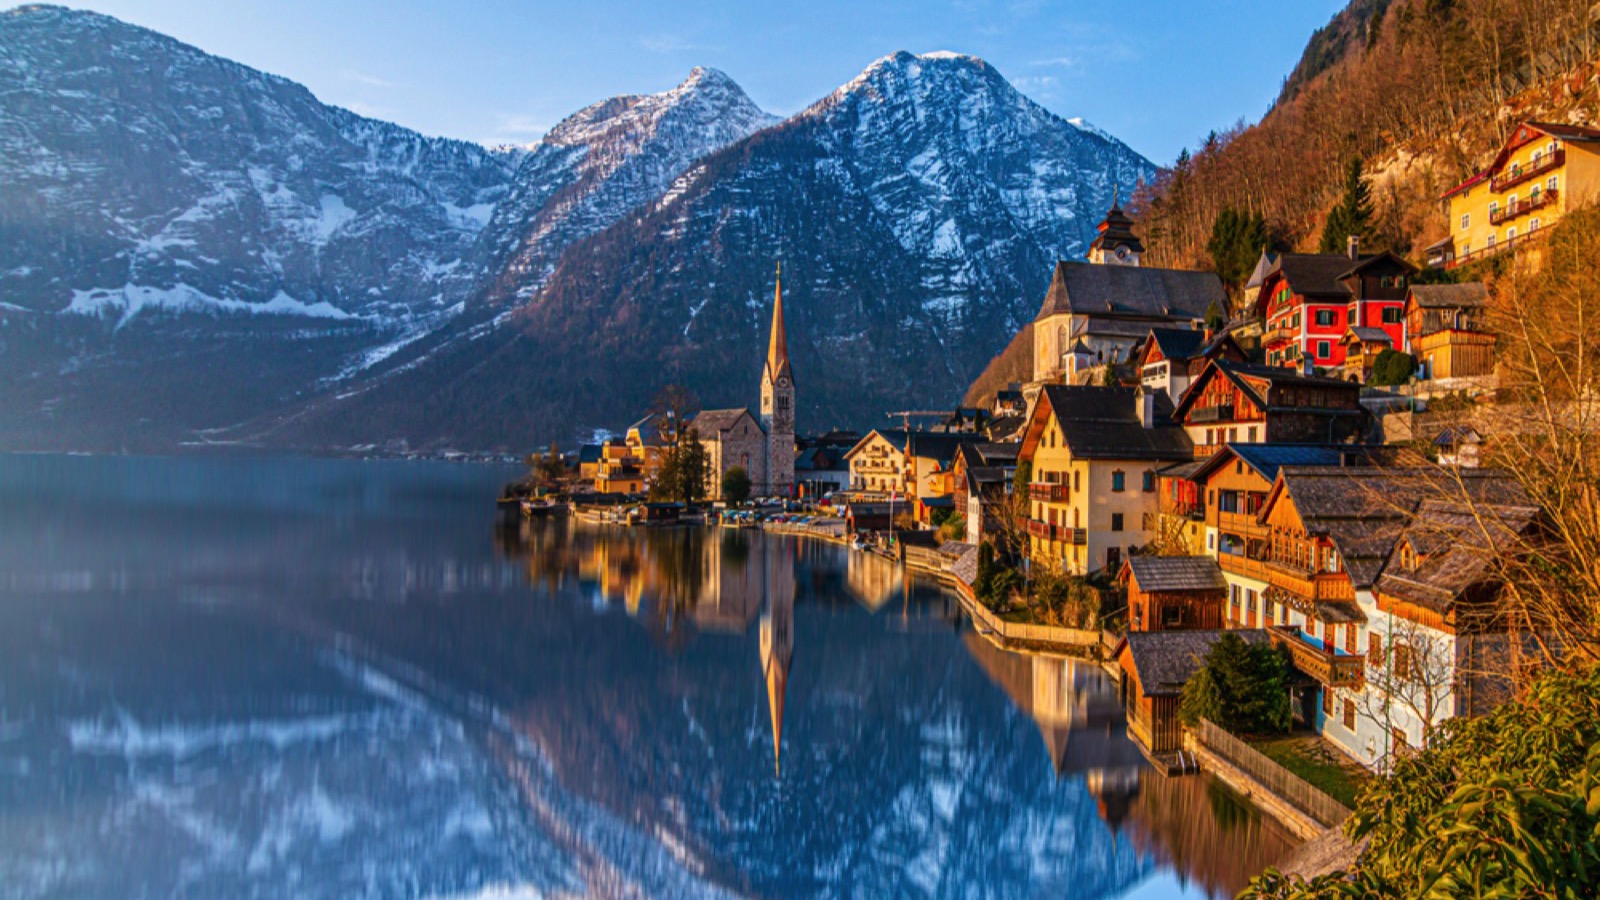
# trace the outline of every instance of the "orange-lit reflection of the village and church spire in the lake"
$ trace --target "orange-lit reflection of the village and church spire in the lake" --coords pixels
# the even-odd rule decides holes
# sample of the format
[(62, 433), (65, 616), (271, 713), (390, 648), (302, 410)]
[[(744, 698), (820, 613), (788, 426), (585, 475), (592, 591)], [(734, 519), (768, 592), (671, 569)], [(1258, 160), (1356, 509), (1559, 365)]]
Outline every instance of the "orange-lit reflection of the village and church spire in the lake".
[[(784, 743), (786, 705), (794, 717), (819, 700), (790, 697), (798, 597), (808, 609), (846, 604), (834, 612), (870, 615), (885, 633), (958, 634), (952, 650), (965, 650), (1032, 719), (1054, 780), (1082, 781), (1106, 826), (1210, 895), (1232, 895), (1296, 846), (1278, 823), (1208, 777), (1170, 778), (1150, 769), (1126, 735), (1115, 684), (1098, 665), (1002, 650), (960, 626), (946, 591), (890, 560), (741, 530), (523, 525), (496, 541), (504, 557), (525, 565), (531, 583), (554, 589), (576, 581), (597, 604), (621, 604), (672, 653), (693, 655), (698, 634), (744, 636), (755, 626), (770, 727), (762, 740), (771, 738), (779, 780), (786, 749), (792, 756), (803, 741), (790, 729)], [(821, 666), (838, 653), (811, 647), (808, 657), (802, 647), (806, 684), (818, 677), (806, 665)]]

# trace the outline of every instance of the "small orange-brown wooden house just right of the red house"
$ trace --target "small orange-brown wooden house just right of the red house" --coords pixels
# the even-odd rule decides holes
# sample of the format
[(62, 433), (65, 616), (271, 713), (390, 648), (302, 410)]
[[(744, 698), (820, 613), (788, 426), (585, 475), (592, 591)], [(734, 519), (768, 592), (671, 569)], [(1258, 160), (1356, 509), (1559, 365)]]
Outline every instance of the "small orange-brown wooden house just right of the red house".
[(1490, 295), (1483, 282), (1411, 285), (1406, 291), (1406, 352), (1418, 378), (1480, 378), (1494, 373), (1494, 335), (1483, 325)]

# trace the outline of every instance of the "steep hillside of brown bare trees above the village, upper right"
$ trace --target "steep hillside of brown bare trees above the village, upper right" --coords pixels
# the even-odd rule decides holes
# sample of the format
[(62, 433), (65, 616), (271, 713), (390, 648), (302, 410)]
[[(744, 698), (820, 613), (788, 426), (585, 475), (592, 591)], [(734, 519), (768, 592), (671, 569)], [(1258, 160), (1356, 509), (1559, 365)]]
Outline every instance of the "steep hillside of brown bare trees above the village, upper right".
[(1365, 162), (1370, 245), (1413, 253), (1443, 235), (1437, 197), (1520, 120), (1597, 117), (1589, 0), (1354, 0), (1307, 43), (1256, 125), (1206, 136), (1134, 202), (1147, 263), (1211, 267), (1224, 210), (1315, 250), (1352, 160)]

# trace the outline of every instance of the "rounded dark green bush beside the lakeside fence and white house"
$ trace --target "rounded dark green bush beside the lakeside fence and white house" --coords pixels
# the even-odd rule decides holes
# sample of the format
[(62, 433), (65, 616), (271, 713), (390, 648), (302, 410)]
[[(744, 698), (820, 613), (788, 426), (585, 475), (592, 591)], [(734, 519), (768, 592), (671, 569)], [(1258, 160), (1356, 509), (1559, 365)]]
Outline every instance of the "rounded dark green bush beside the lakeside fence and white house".
[(1283, 732), (1290, 727), (1290, 661), (1272, 644), (1246, 644), (1222, 634), (1178, 700), (1186, 725), (1211, 719), (1242, 733)]

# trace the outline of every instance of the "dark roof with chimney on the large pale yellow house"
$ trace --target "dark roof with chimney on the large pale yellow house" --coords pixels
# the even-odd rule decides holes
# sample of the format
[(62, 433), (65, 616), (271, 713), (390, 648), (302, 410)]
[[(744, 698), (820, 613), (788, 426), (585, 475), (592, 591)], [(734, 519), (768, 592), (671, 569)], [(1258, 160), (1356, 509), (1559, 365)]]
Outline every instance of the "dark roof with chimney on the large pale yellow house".
[(1056, 413), (1067, 448), (1082, 460), (1187, 460), (1194, 442), (1173, 420), (1173, 402), (1155, 394), (1155, 426), (1144, 428), (1138, 388), (1046, 384), (1043, 400)]

